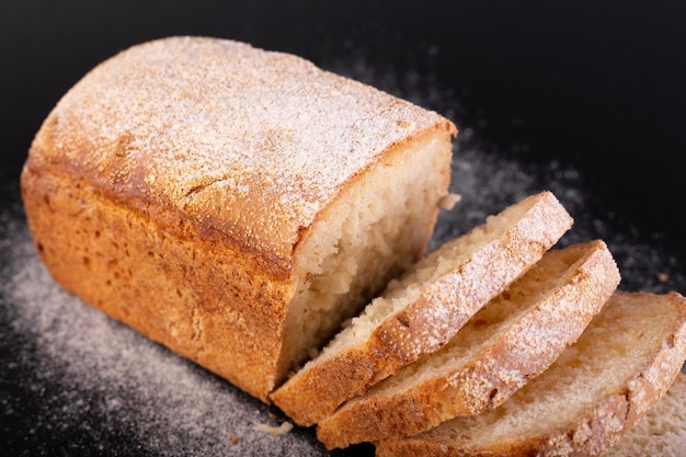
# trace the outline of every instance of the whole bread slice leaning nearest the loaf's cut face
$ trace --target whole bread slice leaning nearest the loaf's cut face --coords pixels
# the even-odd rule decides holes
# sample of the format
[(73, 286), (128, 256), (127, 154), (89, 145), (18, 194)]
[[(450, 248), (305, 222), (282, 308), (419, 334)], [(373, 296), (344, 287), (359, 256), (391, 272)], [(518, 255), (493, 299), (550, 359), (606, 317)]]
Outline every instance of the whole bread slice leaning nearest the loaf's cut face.
[(447, 343), (571, 225), (571, 216), (550, 192), (490, 216), (391, 282), (271, 398), (299, 425), (319, 422), (345, 400)]

